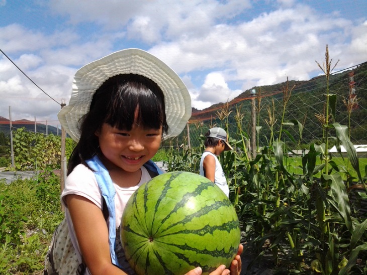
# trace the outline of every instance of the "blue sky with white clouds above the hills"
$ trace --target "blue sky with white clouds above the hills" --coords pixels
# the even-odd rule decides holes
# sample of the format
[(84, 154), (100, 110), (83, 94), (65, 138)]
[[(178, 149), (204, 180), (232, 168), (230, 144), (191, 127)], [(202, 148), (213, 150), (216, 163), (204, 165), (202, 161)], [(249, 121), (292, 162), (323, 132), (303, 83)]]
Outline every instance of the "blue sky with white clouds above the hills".
[[(124, 48), (166, 62), (203, 109), (321, 74), (326, 44), (335, 71), (367, 61), (367, 1), (0, 0), (0, 49), (57, 102), (78, 68)], [(0, 116), (58, 124), (60, 106), (2, 53), (0, 96)]]

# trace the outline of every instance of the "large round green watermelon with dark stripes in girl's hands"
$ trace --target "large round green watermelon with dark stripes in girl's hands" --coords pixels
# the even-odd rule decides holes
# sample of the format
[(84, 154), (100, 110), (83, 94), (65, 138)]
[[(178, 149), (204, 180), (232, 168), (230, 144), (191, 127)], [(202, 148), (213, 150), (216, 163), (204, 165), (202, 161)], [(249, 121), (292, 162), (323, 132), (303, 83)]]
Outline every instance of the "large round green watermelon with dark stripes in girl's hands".
[(121, 242), (137, 274), (208, 274), (230, 266), (240, 243), (236, 211), (223, 191), (189, 172), (159, 175), (130, 197)]

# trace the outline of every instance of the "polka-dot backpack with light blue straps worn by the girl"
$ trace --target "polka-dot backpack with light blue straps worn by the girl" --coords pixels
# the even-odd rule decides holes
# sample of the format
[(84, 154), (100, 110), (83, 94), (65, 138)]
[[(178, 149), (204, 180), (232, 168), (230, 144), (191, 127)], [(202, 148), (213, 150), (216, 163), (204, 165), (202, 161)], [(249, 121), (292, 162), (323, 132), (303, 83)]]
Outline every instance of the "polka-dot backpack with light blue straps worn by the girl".
[[(90, 160), (86, 161), (87, 165), (93, 169), (98, 186), (101, 189), (103, 197), (103, 215), (107, 222), (109, 222), (109, 243), (112, 263), (119, 266), (117, 255), (115, 255), (115, 239), (116, 239), (116, 228), (115, 228), (115, 188), (113, 186), (111, 177), (102, 164), (100, 159), (95, 156)], [(152, 161), (144, 164), (144, 167), (149, 172), (151, 178), (162, 174), (156, 164)], [(119, 266), (121, 268), (121, 266)], [(66, 219), (64, 218), (61, 223), (56, 227), (51, 244), (48, 248), (44, 275), (64, 275), (64, 274), (84, 274), (86, 265), (83, 260), (78, 258), (75, 248), (71, 242), (69, 236), (69, 227)]]

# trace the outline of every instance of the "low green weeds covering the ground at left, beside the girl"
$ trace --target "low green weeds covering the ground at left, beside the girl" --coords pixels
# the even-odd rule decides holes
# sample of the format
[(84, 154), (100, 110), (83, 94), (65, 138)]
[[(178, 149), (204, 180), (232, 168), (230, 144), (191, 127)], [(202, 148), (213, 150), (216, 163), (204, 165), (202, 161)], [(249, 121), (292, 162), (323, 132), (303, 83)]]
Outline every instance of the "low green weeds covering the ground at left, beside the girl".
[(35, 273), (62, 220), (60, 180), (46, 171), (32, 180), (0, 182), (0, 273)]

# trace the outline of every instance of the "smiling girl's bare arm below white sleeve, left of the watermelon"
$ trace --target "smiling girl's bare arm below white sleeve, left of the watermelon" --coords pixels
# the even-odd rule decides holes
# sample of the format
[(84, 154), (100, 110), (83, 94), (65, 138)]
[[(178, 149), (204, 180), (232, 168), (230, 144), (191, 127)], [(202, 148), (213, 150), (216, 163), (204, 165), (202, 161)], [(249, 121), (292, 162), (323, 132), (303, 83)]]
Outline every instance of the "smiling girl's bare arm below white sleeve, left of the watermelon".
[(108, 227), (101, 209), (82, 196), (67, 195), (65, 200), (90, 273), (126, 274), (111, 262)]

